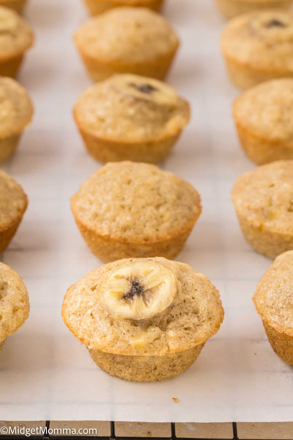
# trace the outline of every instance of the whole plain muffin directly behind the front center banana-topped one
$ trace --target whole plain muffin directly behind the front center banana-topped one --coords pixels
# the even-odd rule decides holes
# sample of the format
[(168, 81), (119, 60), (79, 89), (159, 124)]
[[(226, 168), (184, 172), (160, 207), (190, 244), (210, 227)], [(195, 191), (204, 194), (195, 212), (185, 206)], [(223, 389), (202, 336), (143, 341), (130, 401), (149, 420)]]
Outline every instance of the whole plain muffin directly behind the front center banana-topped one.
[(192, 185), (156, 165), (109, 162), (71, 199), (76, 224), (103, 261), (174, 258), (201, 213)]

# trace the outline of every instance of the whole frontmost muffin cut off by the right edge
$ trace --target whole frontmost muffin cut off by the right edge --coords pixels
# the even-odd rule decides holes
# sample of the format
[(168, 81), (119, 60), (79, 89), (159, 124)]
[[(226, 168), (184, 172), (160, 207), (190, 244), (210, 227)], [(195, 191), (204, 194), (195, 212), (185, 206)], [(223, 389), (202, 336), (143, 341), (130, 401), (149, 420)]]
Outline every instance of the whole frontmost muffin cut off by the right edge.
[(253, 302), (274, 352), (293, 365), (293, 251), (275, 259), (257, 284)]

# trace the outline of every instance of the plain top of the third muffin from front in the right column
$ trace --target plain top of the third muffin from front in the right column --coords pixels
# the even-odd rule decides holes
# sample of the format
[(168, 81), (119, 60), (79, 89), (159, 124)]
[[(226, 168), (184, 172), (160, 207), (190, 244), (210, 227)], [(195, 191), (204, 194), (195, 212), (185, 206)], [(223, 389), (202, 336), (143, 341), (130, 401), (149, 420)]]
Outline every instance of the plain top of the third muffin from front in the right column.
[(293, 79), (257, 84), (235, 100), (233, 113), (254, 136), (293, 147)]

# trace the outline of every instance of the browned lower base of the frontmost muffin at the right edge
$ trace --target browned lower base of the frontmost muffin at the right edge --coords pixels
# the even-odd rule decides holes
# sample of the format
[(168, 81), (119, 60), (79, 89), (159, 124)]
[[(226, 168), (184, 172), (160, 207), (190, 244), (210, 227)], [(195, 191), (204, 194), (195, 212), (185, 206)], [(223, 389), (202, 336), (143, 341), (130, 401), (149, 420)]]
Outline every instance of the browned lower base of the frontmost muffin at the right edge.
[(293, 336), (280, 333), (263, 321), (264, 330), (274, 352), (289, 365), (293, 365)]

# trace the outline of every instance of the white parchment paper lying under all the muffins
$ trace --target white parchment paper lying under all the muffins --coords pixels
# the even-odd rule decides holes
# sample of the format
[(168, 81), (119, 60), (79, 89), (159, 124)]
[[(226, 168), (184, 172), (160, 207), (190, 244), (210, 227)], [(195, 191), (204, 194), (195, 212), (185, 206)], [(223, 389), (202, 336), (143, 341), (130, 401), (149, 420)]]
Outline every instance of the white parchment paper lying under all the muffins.
[[(253, 296), (271, 261), (242, 238), (229, 192), (253, 168), (231, 117), (238, 91), (219, 48), (224, 20), (211, 0), (168, 0), (164, 14), (182, 45), (168, 81), (192, 103), (192, 122), (163, 167), (199, 191), (203, 214), (178, 260), (221, 292), (225, 320), (184, 374), (162, 383), (112, 378), (96, 367), (61, 320), (69, 285), (98, 267), (69, 209), (69, 198), (98, 167), (84, 150), (72, 106), (90, 84), (72, 42), (86, 18), (80, 0), (30, 0), (36, 31), (19, 81), (36, 114), (4, 166), (29, 196), (23, 222), (2, 256), (29, 291), (28, 321), (0, 355), (1, 420), (284, 422), (293, 420), (293, 369), (271, 350)], [(174, 403), (177, 397), (179, 403)]]

